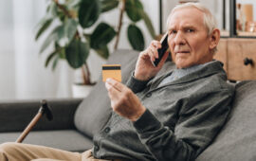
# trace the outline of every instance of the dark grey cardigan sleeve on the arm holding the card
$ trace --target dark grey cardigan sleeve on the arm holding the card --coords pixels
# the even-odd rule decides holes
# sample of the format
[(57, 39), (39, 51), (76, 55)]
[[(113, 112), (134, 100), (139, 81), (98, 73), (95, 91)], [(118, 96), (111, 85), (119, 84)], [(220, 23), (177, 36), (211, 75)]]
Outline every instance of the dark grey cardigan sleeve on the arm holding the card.
[(232, 95), (229, 90), (221, 90), (201, 94), (196, 100), (182, 100), (183, 109), (174, 131), (158, 121), (149, 110), (134, 122), (134, 127), (156, 160), (194, 160), (224, 125)]

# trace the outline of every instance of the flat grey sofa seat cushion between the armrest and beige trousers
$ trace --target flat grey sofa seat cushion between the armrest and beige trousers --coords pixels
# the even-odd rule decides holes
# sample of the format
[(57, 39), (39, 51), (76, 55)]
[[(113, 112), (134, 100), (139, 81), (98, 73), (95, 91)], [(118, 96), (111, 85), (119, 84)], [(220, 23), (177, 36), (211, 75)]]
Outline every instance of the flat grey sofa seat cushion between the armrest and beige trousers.
[[(14, 142), (21, 133), (0, 133), (0, 143)], [(43, 145), (70, 152), (84, 152), (92, 148), (92, 140), (75, 130), (30, 132), (23, 143)]]

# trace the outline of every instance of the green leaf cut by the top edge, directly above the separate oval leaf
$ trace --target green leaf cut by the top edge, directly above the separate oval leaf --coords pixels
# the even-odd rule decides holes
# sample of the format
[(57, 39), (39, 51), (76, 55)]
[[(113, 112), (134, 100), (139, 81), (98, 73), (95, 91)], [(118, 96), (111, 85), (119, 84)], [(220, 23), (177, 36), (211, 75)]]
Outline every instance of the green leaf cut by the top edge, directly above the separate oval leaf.
[(125, 6), (126, 13), (133, 22), (141, 20), (140, 11), (143, 6), (139, 0), (127, 0)]

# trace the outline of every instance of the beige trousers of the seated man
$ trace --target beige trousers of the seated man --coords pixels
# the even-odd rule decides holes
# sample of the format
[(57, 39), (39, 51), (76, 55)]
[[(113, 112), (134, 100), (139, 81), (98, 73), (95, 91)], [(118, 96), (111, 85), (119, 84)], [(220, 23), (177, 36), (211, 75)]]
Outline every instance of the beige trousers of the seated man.
[[(44, 146), (23, 143), (4, 143), (0, 145), (0, 161), (107, 161), (95, 159), (91, 150), (86, 152), (67, 152)], [(116, 160), (115, 160), (116, 161)], [(118, 161), (118, 160), (117, 160)]]

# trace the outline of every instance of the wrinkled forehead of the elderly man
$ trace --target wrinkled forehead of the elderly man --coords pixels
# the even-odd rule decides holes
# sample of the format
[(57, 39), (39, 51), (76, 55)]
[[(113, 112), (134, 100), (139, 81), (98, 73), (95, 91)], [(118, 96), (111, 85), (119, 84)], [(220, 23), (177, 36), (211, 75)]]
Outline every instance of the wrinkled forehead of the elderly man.
[(167, 29), (177, 24), (205, 27), (204, 14), (201, 10), (193, 7), (174, 9), (168, 17)]

